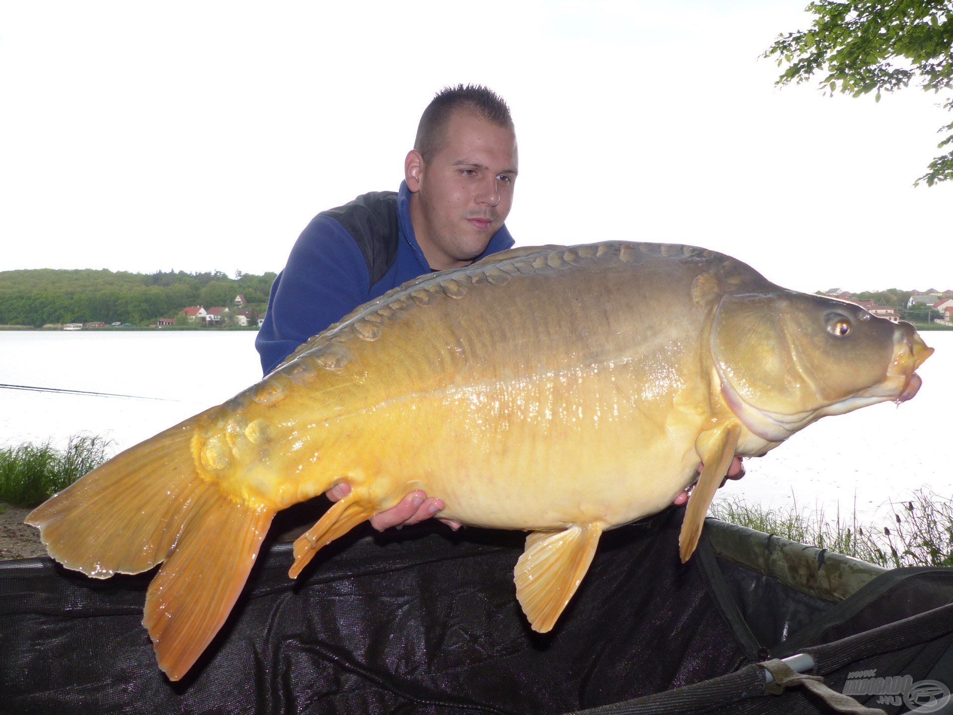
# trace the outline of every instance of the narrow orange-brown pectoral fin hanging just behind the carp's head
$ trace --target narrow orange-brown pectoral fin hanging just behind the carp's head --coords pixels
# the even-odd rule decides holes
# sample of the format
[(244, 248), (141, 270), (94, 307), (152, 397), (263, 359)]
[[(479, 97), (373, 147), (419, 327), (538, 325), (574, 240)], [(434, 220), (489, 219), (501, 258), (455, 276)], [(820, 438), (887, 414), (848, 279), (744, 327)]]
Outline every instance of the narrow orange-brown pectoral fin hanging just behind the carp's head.
[(699, 454), (705, 466), (692, 490), (692, 496), (688, 498), (685, 519), (681, 522), (679, 553), (682, 563), (688, 561), (699, 545), (705, 515), (715, 499), (715, 492), (721, 486), (721, 480), (728, 474), (740, 434), (740, 425), (729, 422), (717, 430), (703, 433), (698, 440)]

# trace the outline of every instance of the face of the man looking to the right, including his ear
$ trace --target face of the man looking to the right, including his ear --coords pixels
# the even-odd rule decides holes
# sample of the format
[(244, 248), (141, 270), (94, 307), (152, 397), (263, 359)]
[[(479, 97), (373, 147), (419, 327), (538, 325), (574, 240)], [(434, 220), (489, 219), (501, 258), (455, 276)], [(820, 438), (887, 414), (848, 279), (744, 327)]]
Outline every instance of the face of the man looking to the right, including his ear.
[[(483, 253), (513, 205), (517, 137), (474, 112), (454, 112), (432, 161), (412, 160), (411, 218), (431, 268), (466, 265)], [(416, 173), (416, 175), (415, 175)]]

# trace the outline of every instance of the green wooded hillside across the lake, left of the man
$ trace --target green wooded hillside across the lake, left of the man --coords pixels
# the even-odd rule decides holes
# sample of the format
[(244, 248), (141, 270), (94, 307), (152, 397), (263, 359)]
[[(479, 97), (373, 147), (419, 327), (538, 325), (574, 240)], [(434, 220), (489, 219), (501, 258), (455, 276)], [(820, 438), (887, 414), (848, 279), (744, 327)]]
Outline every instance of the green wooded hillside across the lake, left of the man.
[(159, 317), (175, 317), (190, 305), (234, 308), (237, 295), (249, 303), (264, 303), (274, 278), (274, 273), (240, 272), (231, 278), (218, 271), (2, 271), (0, 324), (40, 327), (102, 320), (146, 325)]

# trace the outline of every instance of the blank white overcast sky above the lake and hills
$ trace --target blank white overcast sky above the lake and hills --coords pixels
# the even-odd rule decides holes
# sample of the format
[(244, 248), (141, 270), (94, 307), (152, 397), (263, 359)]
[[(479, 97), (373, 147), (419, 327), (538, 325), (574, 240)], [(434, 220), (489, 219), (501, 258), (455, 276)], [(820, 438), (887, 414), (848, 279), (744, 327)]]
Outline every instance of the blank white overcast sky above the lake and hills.
[(278, 271), (314, 214), (397, 188), (436, 91), (479, 82), (517, 125), (519, 245), (953, 288), (953, 186), (911, 186), (950, 117), (914, 89), (775, 88), (760, 52), (804, 4), (6, 3), (0, 270)]

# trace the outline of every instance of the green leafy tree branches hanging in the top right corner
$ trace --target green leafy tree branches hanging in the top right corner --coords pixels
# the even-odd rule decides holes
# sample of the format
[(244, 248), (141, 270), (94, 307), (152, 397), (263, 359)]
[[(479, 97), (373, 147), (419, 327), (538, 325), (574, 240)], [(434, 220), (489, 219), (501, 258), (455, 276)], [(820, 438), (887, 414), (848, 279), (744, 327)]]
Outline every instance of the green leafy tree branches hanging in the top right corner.
[[(764, 52), (787, 64), (777, 84), (801, 84), (823, 75), (823, 92), (859, 97), (895, 92), (911, 82), (941, 95), (953, 111), (953, 3), (949, 0), (819, 0), (806, 9), (814, 15), (809, 30), (782, 34)], [(937, 145), (951, 151), (937, 156), (914, 182), (933, 186), (953, 179), (953, 122)]]

